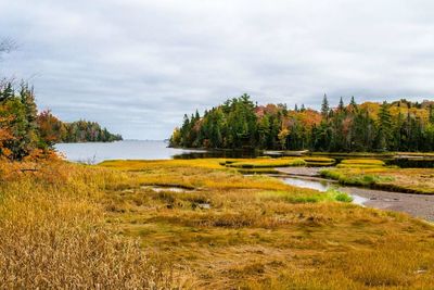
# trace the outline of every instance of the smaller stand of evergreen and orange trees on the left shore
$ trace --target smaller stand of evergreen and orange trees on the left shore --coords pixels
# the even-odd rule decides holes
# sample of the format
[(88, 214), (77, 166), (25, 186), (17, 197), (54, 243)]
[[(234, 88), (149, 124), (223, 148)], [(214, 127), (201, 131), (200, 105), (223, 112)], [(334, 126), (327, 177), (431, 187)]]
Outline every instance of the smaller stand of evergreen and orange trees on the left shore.
[(58, 142), (114, 141), (113, 135), (98, 123), (64, 123), (50, 111), (38, 113), (35, 92), (26, 83), (17, 88), (12, 81), (0, 81), (0, 155), (23, 160), (48, 153)]

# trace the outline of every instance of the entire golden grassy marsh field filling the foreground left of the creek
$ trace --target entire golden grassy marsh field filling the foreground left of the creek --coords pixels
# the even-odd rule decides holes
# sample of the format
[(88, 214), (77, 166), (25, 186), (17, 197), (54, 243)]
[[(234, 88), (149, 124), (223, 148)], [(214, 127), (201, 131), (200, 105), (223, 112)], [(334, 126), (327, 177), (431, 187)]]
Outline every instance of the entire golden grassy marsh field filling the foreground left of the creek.
[(434, 227), (224, 160), (2, 174), (0, 285), (401, 289), (434, 285)]

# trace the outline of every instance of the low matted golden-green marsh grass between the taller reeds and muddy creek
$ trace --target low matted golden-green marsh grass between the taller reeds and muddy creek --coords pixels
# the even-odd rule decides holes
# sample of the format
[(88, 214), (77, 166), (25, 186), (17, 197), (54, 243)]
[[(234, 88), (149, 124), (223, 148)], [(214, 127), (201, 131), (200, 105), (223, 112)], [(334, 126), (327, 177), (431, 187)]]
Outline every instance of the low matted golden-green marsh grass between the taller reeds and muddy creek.
[[(187, 265), (194, 288), (434, 285), (434, 229), (424, 222), (335, 202), (269, 177), (243, 177), (229, 168), (167, 162), (150, 169), (142, 163), (149, 169), (133, 173), (140, 181), (128, 188), (123, 185), (106, 192), (106, 220), (162, 260)], [(190, 187), (156, 191), (141, 187), (143, 182)]]

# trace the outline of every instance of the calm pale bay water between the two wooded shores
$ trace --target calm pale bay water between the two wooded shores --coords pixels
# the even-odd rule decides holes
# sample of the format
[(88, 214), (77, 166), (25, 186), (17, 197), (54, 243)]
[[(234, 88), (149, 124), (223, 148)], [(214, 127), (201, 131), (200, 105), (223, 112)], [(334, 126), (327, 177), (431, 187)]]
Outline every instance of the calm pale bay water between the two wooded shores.
[(251, 151), (205, 151), (167, 148), (164, 141), (117, 141), (110, 143), (60, 143), (58, 152), (74, 162), (100, 163), (105, 160), (167, 160), (201, 157), (254, 157)]

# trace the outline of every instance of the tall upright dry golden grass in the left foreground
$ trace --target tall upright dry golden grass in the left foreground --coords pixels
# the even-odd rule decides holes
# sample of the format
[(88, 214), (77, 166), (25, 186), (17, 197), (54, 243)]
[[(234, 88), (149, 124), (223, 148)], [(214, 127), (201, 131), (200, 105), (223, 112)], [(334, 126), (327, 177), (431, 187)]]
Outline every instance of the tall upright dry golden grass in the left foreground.
[(0, 288), (171, 287), (167, 265), (104, 223), (98, 201), (125, 174), (64, 162), (12, 172), (0, 185)]

